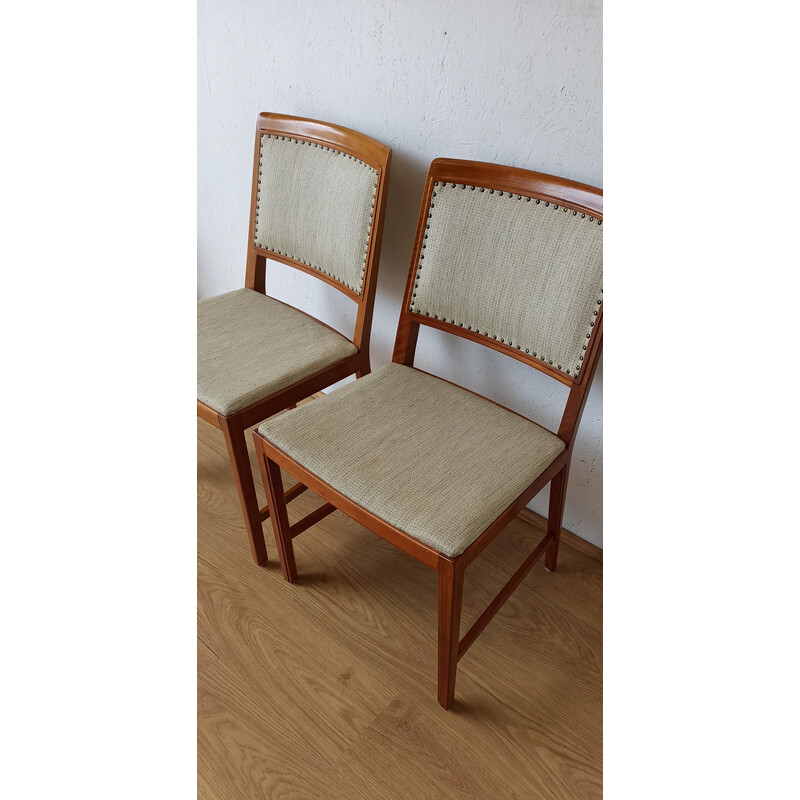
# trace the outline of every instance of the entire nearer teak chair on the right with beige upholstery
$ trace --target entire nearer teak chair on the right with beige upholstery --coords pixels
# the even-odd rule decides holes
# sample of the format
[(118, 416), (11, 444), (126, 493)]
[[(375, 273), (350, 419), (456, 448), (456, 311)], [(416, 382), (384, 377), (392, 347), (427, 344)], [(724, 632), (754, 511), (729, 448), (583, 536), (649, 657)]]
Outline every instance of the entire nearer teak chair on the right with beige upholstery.
[[(570, 457), (602, 342), (602, 192), (437, 159), (425, 184), (392, 363), (254, 434), (283, 575), (334, 508), (439, 573), (439, 703), (456, 664), (536, 560), (556, 568)], [(420, 325), (566, 384), (557, 433), (414, 368)], [(283, 467), (325, 501), (290, 526)], [(459, 640), (464, 571), (548, 483), (547, 533)]]

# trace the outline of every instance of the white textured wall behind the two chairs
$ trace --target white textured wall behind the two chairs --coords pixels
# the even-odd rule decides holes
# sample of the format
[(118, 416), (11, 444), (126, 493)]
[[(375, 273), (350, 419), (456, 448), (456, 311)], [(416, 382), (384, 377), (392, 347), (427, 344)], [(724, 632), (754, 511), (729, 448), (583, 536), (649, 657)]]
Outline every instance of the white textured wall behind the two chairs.
[[(425, 173), (438, 156), (602, 186), (599, 0), (199, 0), (198, 296), (244, 281), (260, 111), (362, 131), (393, 149), (372, 364), (391, 359)], [(268, 292), (352, 332), (352, 304), (271, 264)], [(548, 427), (566, 390), (512, 359), (422, 329), (417, 364)], [(564, 525), (602, 546), (602, 361)], [(547, 513), (547, 491), (531, 503)]]

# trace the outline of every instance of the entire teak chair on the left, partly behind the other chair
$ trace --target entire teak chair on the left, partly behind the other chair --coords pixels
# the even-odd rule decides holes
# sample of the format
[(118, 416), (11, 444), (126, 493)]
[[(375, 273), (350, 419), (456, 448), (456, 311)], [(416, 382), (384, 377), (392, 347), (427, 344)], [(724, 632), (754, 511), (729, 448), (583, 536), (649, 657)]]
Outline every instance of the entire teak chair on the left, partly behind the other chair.
[[(370, 371), (369, 339), (391, 149), (316, 120), (260, 114), (245, 288), (197, 309), (197, 415), (225, 436), (253, 559), (267, 562), (245, 431), (315, 392)], [(357, 305), (352, 341), (266, 295), (266, 261)], [(297, 484), (291, 500), (305, 490)]]

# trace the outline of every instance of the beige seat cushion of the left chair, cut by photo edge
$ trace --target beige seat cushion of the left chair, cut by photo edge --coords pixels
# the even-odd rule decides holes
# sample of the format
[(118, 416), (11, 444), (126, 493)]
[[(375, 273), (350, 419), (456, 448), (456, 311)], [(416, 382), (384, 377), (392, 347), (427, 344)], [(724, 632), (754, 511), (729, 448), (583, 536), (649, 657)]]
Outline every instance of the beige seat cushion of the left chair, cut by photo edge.
[(197, 304), (197, 399), (224, 416), (357, 352), (341, 334), (252, 289)]

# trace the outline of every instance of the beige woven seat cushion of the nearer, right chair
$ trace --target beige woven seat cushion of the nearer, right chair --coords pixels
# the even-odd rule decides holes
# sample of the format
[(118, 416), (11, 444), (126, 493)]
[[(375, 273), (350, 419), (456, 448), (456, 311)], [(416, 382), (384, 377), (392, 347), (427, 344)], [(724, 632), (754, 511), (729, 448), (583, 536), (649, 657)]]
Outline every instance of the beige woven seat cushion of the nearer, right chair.
[(446, 381), (390, 364), (259, 427), (376, 516), (457, 556), (564, 442)]

